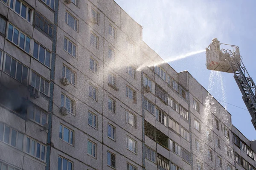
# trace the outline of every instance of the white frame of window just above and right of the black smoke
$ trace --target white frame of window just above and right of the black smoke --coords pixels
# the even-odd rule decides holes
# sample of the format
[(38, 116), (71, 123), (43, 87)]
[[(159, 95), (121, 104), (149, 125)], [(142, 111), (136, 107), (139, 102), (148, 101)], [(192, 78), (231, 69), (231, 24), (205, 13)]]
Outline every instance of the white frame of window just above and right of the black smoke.
[[(35, 74), (35, 85), (32, 85), (32, 75)], [(39, 88), (36, 87), (36, 83), (37, 83), (37, 78), (39, 78)], [(42, 85), (42, 81), (44, 81), (44, 90), (41, 91), (41, 85)], [(46, 84), (48, 83), (48, 89), (46, 88)], [(45, 79), (44, 77), (42, 77), (41, 75), (39, 75), (37, 72), (31, 70), (31, 78), (30, 78), (30, 85), (32, 87), (34, 87), (35, 89), (37, 89), (38, 91), (40, 91), (41, 93), (45, 94), (46, 96), (49, 96), (49, 91), (50, 91), (50, 82)]]

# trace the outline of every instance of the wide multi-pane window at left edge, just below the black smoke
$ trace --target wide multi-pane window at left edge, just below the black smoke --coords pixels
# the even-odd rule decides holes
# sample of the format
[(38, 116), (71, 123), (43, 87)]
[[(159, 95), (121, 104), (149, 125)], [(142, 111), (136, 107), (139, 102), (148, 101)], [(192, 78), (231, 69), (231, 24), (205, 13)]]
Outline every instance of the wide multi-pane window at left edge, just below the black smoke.
[(18, 150), (23, 150), (23, 133), (0, 123), (0, 141), (5, 142)]

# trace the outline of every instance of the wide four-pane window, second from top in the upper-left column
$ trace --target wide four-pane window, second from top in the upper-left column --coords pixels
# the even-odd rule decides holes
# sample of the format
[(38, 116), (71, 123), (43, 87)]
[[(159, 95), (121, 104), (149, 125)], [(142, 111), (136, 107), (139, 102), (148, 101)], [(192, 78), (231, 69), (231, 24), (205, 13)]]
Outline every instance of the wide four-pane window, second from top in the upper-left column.
[(20, 30), (15, 28), (12, 24), (9, 23), (7, 39), (15, 43), (21, 49), (29, 53), (30, 51), (30, 40), (26, 34), (23, 34)]

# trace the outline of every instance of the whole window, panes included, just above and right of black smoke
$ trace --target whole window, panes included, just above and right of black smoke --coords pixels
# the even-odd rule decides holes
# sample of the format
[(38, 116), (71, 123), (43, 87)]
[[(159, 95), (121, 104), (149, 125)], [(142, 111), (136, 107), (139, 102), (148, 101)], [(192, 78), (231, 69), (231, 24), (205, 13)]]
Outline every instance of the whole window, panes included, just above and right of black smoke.
[(31, 73), (30, 85), (49, 96), (49, 81), (38, 75), (35, 71), (31, 71)]

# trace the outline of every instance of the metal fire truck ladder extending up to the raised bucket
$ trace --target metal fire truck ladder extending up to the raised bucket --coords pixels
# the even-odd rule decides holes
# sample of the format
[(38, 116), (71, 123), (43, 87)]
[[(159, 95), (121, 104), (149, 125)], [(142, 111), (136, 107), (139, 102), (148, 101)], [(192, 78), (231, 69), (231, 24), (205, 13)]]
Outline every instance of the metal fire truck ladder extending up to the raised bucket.
[[(240, 60), (238, 61), (236, 57), (236, 52), (234, 48), (238, 48), (238, 46), (231, 45), (233, 47), (233, 51), (224, 50), (222, 51), (230, 54), (230, 66), (234, 73), (234, 78), (236, 83), (242, 93), (242, 99), (252, 117), (251, 122), (256, 130), (256, 87), (253, 79), (250, 77), (248, 71), (246, 70), (244, 63)], [(240, 56), (239, 56), (240, 58)]]

